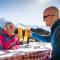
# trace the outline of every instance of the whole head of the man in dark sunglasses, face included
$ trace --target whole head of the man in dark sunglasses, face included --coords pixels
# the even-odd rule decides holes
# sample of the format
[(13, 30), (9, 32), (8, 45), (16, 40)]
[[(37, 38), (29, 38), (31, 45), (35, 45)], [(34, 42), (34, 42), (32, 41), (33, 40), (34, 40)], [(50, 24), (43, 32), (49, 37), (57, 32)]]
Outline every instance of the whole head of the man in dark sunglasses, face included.
[(47, 26), (52, 26), (59, 19), (59, 10), (55, 6), (51, 6), (44, 11), (44, 21)]

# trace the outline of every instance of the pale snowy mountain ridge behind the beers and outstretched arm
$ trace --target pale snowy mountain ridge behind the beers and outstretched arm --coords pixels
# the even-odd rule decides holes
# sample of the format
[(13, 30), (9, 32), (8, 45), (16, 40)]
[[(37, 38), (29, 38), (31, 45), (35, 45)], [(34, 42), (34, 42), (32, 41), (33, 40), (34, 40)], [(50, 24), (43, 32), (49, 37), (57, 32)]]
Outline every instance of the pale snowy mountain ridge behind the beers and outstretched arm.
[(30, 29), (36, 29), (36, 28), (40, 28), (40, 29), (43, 29), (43, 30), (46, 30), (46, 31), (49, 31), (51, 32), (50, 30), (50, 27), (47, 27), (47, 26), (37, 26), (37, 25), (24, 25), (22, 23), (18, 23), (16, 25), (16, 27), (22, 27), (23, 29), (25, 29), (26, 27), (29, 27)]

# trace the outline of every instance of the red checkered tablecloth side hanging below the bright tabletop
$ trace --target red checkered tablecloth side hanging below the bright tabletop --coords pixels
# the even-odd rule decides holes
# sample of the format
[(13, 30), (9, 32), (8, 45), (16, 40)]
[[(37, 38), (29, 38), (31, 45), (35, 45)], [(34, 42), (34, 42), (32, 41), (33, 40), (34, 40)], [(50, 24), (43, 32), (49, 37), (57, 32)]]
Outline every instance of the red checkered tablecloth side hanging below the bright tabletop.
[(50, 53), (50, 50), (25, 52), (25, 54), (17, 52), (13, 56), (0, 57), (0, 60), (48, 60), (50, 58)]

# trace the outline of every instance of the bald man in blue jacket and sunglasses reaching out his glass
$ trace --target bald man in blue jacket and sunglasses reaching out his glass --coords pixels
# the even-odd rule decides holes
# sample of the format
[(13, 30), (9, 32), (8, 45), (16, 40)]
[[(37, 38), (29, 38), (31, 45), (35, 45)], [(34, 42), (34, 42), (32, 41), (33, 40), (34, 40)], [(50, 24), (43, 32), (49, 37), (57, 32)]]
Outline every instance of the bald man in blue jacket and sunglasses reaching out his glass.
[[(43, 14), (43, 19), (46, 22), (46, 26), (49, 26), (51, 28), (51, 35), (49, 36), (49, 39), (46, 37), (43, 37), (39, 34), (36, 34), (35, 32), (32, 32), (32, 37), (39, 40), (39, 41), (44, 41), (44, 42), (51, 42), (52, 44), (52, 59), (51, 60), (56, 60), (58, 59), (58, 42), (57, 38), (58, 37), (58, 26), (60, 24), (59, 20), (59, 10), (55, 6), (51, 6), (45, 9), (44, 14)], [(60, 26), (59, 26), (60, 27)], [(60, 31), (60, 30), (59, 30)], [(57, 34), (57, 35), (56, 35)]]

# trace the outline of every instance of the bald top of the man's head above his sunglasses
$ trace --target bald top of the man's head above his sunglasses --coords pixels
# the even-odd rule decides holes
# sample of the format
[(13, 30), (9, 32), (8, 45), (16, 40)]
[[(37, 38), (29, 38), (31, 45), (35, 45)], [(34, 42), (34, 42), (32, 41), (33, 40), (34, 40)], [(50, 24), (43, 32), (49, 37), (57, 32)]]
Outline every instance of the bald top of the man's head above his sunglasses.
[(59, 10), (55, 6), (48, 7), (48, 8), (45, 9), (44, 15), (48, 15), (48, 14), (56, 15), (56, 16), (59, 17)]

